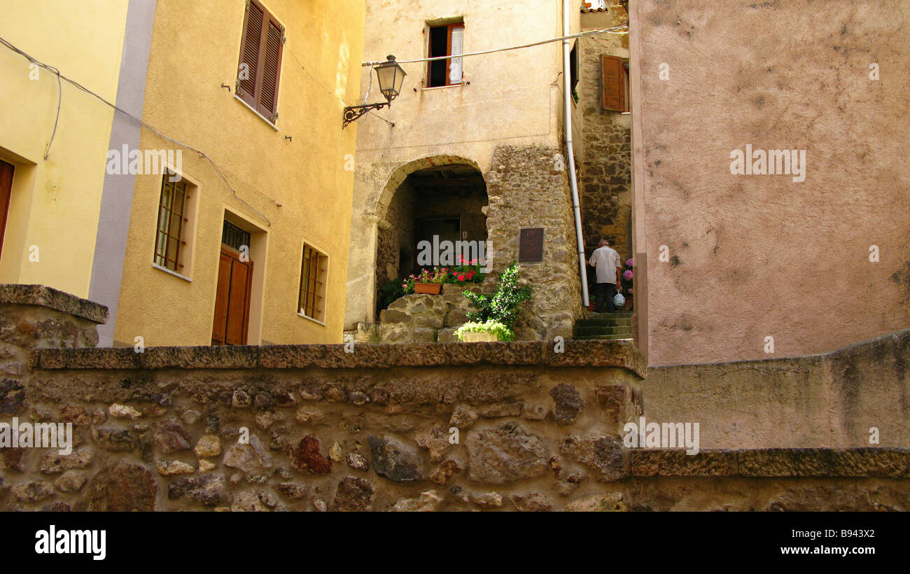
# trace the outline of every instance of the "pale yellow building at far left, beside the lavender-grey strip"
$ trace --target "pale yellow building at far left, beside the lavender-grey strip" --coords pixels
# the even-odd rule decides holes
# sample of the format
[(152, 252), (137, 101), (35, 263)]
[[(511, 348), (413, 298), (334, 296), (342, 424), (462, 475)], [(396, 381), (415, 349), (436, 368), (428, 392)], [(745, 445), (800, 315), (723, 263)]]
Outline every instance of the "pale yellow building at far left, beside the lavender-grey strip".
[(3, 7), (0, 283), (88, 296), (114, 117), (113, 108), (69, 83), (58, 86), (53, 72), (10, 46), (114, 102), (126, 11), (126, 2), (111, 0)]

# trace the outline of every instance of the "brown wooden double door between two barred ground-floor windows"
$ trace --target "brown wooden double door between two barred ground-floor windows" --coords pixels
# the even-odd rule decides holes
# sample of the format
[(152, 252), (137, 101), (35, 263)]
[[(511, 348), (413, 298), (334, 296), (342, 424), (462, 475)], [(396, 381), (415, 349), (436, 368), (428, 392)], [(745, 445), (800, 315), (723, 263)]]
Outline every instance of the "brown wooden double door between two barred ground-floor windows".
[(246, 345), (253, 262), (241, 261), (236, 249), (221, 246), (212, 345)]

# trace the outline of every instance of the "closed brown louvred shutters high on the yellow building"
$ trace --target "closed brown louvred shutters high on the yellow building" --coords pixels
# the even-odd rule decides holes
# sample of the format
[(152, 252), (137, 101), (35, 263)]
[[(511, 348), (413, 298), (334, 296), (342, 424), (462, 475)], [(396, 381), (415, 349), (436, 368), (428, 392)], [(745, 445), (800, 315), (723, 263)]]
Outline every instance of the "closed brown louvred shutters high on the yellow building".
[(271, 122), (278, 118), (284, 37), (284, 26), (275, 16), (257, 0), (248, 0), (240, 40), (237, 95)]

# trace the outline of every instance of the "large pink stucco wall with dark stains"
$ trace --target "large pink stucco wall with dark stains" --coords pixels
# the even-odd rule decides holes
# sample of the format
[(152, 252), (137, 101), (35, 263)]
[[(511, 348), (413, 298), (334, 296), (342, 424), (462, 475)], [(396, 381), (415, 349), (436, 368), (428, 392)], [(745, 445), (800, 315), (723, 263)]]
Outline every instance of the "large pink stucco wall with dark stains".
[[(649, 363), (788, 357), (910, 326), (910, 3), (630, 11)], [(805, 150), (804, 181), (733, 175), (747, 144)]]

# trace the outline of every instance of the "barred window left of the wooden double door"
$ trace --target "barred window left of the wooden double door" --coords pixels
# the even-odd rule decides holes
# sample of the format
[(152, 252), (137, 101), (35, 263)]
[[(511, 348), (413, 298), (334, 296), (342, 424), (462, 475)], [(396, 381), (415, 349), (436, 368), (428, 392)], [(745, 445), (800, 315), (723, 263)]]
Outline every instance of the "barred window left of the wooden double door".
[(157, 266), (175, 273), (183, 273), (184, 239), (186, 233), (189, 184), (184, 179), (170, 181), (177, 174), (165, 170), (161, 178), (161, 197), (158, 200), (158, 225), (155, 237), (155, 258)]

